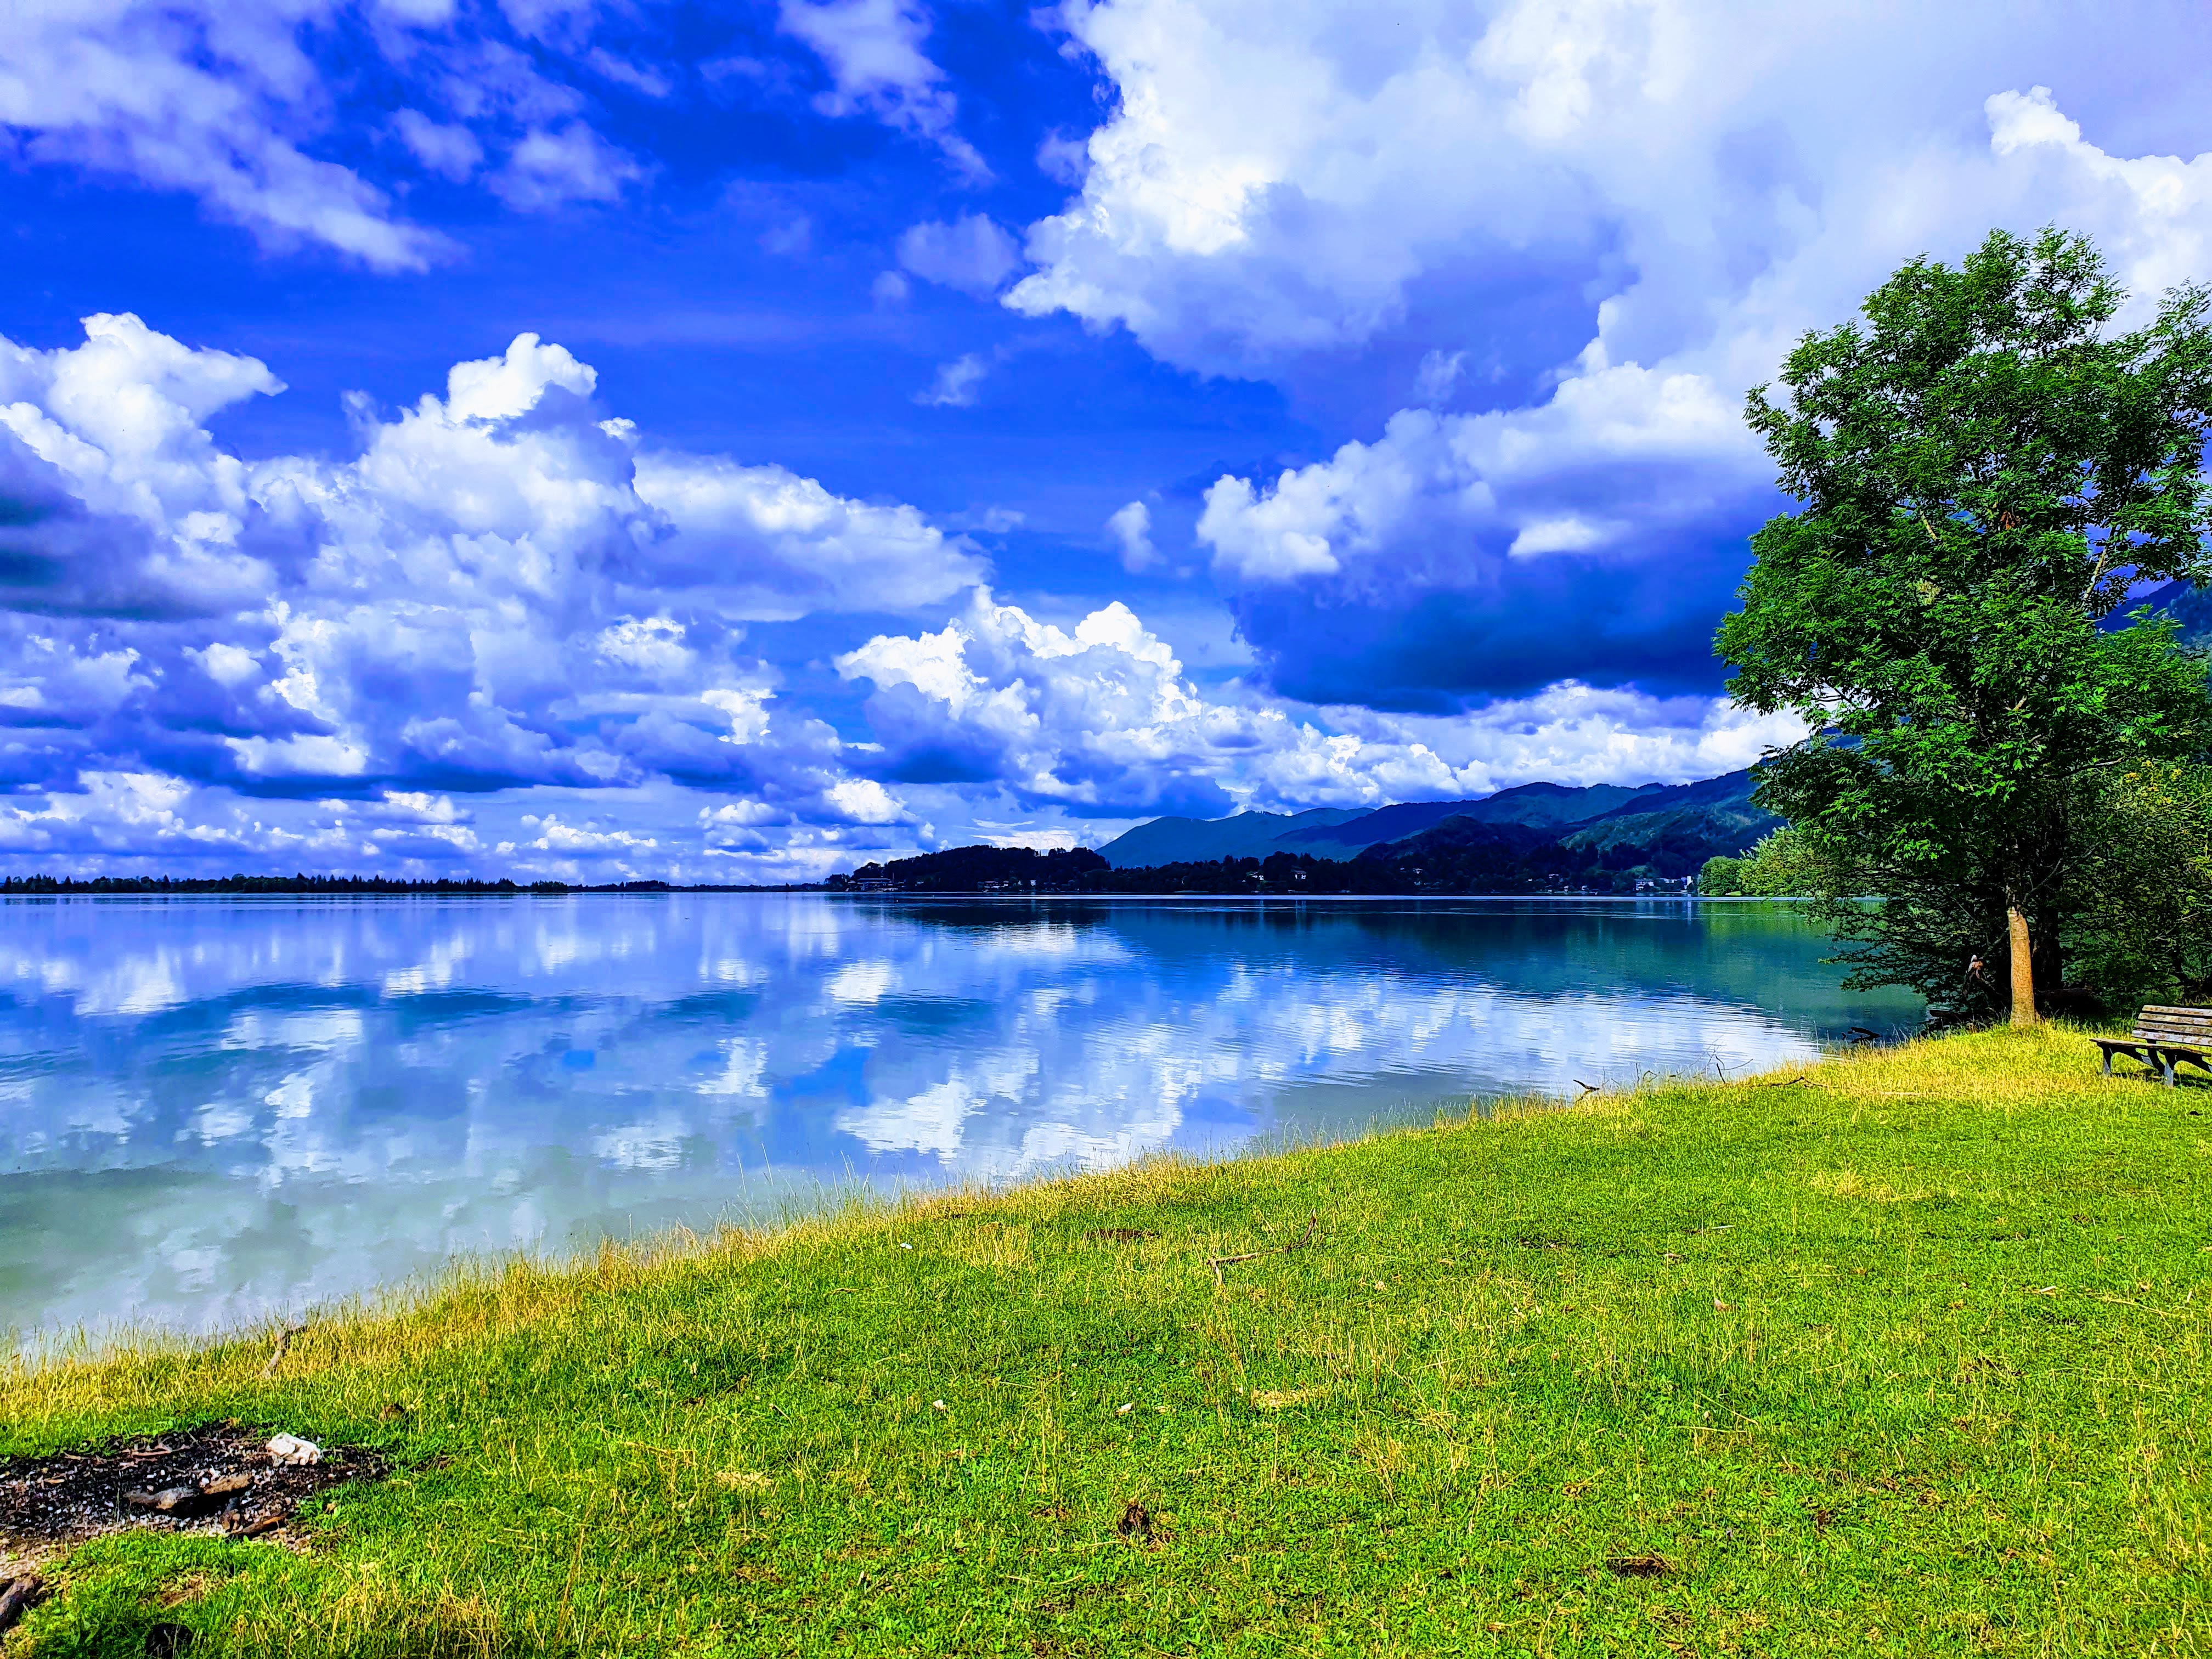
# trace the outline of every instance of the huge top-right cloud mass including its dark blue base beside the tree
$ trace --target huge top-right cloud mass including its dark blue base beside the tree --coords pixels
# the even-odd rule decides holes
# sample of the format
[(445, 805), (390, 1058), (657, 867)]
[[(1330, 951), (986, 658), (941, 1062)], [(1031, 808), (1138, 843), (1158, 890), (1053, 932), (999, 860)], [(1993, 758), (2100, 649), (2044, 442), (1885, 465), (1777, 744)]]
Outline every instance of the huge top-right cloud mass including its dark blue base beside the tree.
[[(2112, 38), (2188, 15), (2135, 4)], [(1298, 697), (1710, 686), (1712, 619), (1776, 502), (1741, 398), (1798, 334), (1991, 226), (2090, 232), (2130, 321), (2212, 252), (2212, 153), (2115, 153), (2039, 77), (2064, 66), (2104, 113), (2148, 97), (2183, 124), (2188, 84), (2146, 82), (2135, 51), (2084, 60), (2066, 13), (1383, 0), (1347, 29), (1314, 0), (1075, 0), (1055, 18), (1117, 102), (1004, 303), (1307, 398), (1360, 374), (1411, 394), (1323, 460), (1206, 491), (1199, 542)], [(1548, 332), (1495, 303), (1515, 294), (1544, 296)]]

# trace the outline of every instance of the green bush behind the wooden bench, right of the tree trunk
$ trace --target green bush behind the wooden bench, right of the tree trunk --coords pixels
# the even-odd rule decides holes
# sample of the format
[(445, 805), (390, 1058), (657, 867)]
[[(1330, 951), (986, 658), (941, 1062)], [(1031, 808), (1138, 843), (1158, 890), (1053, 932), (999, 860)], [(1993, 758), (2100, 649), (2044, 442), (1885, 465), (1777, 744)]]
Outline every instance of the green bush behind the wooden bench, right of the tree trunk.
[(2066, 945), (2119, 1006), (2212, 1000), (2212, 768), (2139, 765), (2081, 812)]

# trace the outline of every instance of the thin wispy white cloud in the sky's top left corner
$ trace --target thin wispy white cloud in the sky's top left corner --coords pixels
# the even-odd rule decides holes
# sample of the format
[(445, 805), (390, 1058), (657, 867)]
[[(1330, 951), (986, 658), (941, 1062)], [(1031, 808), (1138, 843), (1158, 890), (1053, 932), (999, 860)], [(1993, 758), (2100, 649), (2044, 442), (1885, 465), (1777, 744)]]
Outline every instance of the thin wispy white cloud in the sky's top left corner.
[(500, 40), (498, 13), (436, 2), (31, 0), (0, 9), (0, 128), (29, 159), (190, 192), (263, 243), (425, 270), (456, 246), (409, 223), (356, 168), (314, 153), (369, 117), (347, 106), (361, 77), (330, 75), (319, 53), (349, 29), (383, 58), (367, 80), (407, 84), (389, 133), (427, 173), (462, 181), (500, 150), (493, 184), (511, 206), (606, 201), (641, 170), (584, 124), (582, 95), (560, 80), (591, 62), (577, 51), (597, 0), (560, 11), (566, 27), (555, 31), (511, 7), (507, 22), (524, 40)]

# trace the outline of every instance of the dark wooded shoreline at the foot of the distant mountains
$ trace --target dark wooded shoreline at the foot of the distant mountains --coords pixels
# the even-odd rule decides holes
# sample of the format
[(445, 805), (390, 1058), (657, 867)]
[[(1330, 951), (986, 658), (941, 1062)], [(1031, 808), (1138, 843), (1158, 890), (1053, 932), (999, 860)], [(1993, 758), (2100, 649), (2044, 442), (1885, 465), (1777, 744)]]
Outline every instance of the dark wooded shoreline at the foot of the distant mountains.
[[(1374, 847), (1352, 860), (1276, 852), (1267, 858), (1115, 869), (1088, 847), (951, 847), (832, 876), (830, 891), (891, 894), (1635, 894), (1681, 891), (1697, 872), (1652, 876), (1648, 849), (1604, 854), (1562, 847), (1522, 825), (1469, 825), (1460, 845), (1427, 838), (1418, 852)], [(1608, 867), (1635, 858), (1641, 874)]]

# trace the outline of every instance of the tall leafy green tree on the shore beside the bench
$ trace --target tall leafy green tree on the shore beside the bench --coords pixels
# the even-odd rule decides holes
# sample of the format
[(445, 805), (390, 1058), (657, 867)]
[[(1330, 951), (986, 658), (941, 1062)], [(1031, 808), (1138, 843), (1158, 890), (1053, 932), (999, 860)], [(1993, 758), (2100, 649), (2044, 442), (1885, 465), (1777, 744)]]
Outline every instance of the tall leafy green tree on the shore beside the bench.
[(1907, 263), (1747, 398), (1801, 507), (1752, 538), (1717, 650), (1741, 703), (1812, 732), (1756, 799), (1887, 896), (1825, 894), (1856, 982), (1938, 1018), (1993, 1013), (2002, 964), (2035, 1020), (2097, 781), (2212, 737), (2203, 661), (2143, 613), (2110, 626), (2141, 582), (2212, 577), (2208, 294), (2110, 332), (2124, 301), (2086, 239), (1991, 232), (1955, 270)]

